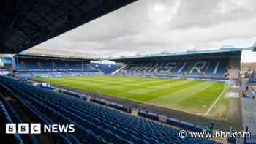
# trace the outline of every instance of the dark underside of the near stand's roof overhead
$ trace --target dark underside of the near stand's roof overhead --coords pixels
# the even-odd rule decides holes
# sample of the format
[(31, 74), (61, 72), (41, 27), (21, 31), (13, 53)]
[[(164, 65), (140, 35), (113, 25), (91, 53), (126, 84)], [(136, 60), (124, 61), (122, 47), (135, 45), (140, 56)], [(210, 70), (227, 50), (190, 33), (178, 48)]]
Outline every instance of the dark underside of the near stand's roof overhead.
[(19, 53), (134, 1), (0, 1), (0, 53)]

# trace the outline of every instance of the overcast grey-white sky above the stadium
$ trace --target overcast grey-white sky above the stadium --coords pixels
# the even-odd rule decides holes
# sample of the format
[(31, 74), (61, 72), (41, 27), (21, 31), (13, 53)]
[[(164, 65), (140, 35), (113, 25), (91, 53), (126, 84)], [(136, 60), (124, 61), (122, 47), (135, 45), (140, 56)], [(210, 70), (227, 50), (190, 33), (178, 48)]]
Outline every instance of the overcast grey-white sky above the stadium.
[[(256, 0), (139, 0), (37, 47), (108, 57), (254, 42)], [(256, 53), (246, 52), (243, 61), (256, 61)]]

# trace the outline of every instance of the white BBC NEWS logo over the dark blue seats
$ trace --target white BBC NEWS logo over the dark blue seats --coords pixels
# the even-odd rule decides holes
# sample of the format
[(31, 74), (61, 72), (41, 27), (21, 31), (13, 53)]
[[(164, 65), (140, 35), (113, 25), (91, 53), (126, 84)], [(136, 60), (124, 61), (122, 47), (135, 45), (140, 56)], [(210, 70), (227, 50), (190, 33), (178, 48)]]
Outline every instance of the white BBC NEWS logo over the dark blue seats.
[(41, 133), (73, 133), (75, 132), (74, 124), (5, 124), (6, 134), (41, 134)]

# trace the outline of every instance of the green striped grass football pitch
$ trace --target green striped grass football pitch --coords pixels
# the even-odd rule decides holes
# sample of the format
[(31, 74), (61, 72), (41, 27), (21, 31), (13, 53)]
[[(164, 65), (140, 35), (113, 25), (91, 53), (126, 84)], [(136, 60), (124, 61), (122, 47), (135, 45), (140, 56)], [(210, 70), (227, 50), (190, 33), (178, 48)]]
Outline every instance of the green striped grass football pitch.
[(214, 104), (225, 85), (200, 80), (121, 76), (40, 77), (37, 80), (200, 114)]

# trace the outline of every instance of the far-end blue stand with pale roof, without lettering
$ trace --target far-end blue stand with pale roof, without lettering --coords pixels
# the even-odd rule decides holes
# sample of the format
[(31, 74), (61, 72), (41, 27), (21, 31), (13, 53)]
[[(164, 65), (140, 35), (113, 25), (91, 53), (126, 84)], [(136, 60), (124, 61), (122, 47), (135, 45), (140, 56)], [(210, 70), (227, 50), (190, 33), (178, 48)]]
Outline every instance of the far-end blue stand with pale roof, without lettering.
[(90, 63), (91, 60), (99, 58), (92, 58), (88, 53), (32, 48), (18, 53), (12, 59), (12, 69), (15, 76), (20, 78), (102, 75), (102, 72)]

